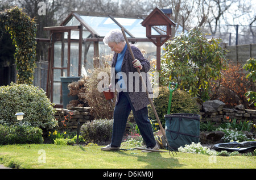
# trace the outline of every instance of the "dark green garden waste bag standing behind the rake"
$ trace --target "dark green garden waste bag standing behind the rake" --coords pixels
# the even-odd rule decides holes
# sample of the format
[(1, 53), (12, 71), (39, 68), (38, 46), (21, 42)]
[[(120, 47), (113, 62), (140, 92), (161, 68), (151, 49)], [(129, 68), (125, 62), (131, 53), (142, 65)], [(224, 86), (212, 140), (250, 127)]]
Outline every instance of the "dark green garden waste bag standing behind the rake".
[(167, 114), (166, 137), (172, 149), (177, 150), (185, 144), (199, 143), (200, 115), (197, 114)]

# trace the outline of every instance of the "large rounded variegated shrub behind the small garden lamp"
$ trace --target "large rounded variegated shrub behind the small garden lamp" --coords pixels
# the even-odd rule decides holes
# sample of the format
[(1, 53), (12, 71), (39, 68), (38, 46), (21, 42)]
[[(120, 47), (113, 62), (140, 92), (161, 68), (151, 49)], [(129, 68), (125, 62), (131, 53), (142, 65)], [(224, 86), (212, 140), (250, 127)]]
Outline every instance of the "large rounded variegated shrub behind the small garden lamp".
[(18, 122), (16, 112), (24, 112), (24, 122), (32, 127), (52, 129), (57, 125), (53, 103), (49, 101), (43, 89), (33, 85), (0, 87), (0, 121), (2, 124), (14, 125)]

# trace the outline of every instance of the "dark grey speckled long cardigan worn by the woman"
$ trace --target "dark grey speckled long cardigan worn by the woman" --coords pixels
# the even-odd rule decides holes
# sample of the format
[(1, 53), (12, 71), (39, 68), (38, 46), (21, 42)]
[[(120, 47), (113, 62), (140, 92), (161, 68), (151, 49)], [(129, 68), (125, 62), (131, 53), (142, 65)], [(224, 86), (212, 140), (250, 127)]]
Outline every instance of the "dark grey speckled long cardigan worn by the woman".
[[(143, 66), (143, 68), (141, 69), (142, 74), (146, 74), (149, 70), (150, 70), (150, 62), (143, 57), (141, 51), (139, 50), (139, 48), (135, 47), (135, 45), (130, 44), (131, 50), (133, 51), (134, 57), (137, 58), (137, 60), (139, 60)], [(114, 53), (113, 59), (112, 59), (112, 72), (111, 72), (111, 76), (112, 76), (112, 81), (111, 82), (115, 82), (115, 84), (117, 83), (118, 79), (115, 78), (115, 64), (117, 62), (117, 53)], [(139, 92), (138, 90), (135, 91), (135, 81), (133, 81), (133, 91), (129, 91), (129, 72), (131, 72), (130, 74), (134, 74), (137, 72), (137, 69), (133, 67), (133, 58), (130, 54), (129, 48), (126, 49), (125, 52), (125, 56), (123, 57), (123, 62), (122, 62), (122, 72), (126, 74), (127, 77), (127, 83), (126, 83), (126, 87), (127, 87), (127, 91), (129, 94), (129, 97), (131, 99), (131, 103), (133, 104), (133, 107), (135, 109), (135, 111), (141, 110), (142, 108), (146, 107), (150, 102), (148, 100), (148, 96), (146, 91), (142, 88), (142, 83), (141, 83), (141, 79), (139, 80)], [(144, 73), (143, 73), (144, 72)], [(130, 77), (133, 78), (133, 77)], [(115, 81), (113, 81), (113, 79), (115, 79)], [(133, 78), (134, 79), (134, 78)], [(146, 85), (148, 86), (148, 91), (151, 92), (151, 85), (148, 81), (148, 77), (146, 75), (146, 79), (144, 79), (144, 82), (146, 83)], [(138, 83), (138, 82), (137, 82)], [(138, 87), (138, 85), (137, 85)], [(115, 101), (115, 104), (118, 103), (118, 99), (119, 99), (119, 93), (117, 93), (117, 99)]]

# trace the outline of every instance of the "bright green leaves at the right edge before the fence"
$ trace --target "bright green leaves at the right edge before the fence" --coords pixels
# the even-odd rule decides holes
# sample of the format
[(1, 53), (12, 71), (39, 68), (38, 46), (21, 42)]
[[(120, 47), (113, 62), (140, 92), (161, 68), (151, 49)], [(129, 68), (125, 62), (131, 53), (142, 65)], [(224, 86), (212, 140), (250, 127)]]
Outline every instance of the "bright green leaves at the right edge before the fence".
[[(246, 64), (243, 65), (243, 69), (247, 70), (249, 73), (247, 74), (246, 78), (250, 81), (255, 83), (256, 81), (256, 60), (254, 58), (250, 58), (246, 61)], [(256, 106), (256, 92), (254, 91), (247, 91), (245, 93), (246, 97), (248, 97), (248, 101), (251, 101), (251, 104)]]

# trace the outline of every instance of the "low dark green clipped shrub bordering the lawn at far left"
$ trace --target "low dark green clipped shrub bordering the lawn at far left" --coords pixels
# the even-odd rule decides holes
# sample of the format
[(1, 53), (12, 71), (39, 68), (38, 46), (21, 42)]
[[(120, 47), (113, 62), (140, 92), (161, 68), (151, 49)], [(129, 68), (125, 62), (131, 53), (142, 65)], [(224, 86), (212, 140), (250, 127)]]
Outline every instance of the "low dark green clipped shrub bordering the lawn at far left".
[(42, 134), (37, 127), (0, 125), (0, 144), (42, 144)]

